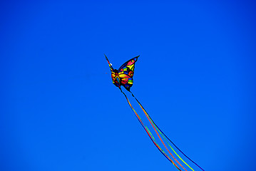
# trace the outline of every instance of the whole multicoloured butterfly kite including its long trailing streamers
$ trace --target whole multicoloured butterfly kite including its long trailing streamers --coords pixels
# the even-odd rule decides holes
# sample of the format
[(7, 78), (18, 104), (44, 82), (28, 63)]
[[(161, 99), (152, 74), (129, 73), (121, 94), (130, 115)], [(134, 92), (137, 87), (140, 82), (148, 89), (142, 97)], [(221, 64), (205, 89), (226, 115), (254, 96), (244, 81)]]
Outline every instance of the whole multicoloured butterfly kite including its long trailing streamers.
[[(105, 55), (106, 56), (106, 55)], [(123, 63), (123, 65), (118, 69), (114, 69), (112, 64), (108, 61), (108, 58), (106, 56), (106, 60), (108, 61), (108, 65), (111, 68), (111, 78), (113, 81), (113, 84), (115, 86), (117, 86), (121, 92), (123, 93), (123, 90), (121, 89), (121, 86), (123, 86), (124, 88), (126, 88), (126, 90), (128, 90), (130, 92), (130, 87), (133, 86), (133, 75), (134, 75), (134, 67), (135, 67), (135, 62), (138, 61), (138, 57), (136, 56), (134, 58), (131, 58), (129, 61), (127, 61), (126, 63)], [(131, 95), (133, 95), (132, 92), (130, 92)], [(154, 130), (155, 132), (151, 133), (150, 129), (147, 127), (147, 125), (145, 125), (145, 123), (143, 122), (142, 118), (138, 115), (138, 113), (134, 110), (133, 106), (130, 104), (130, 101), (128, 100), (127, 96), (125, 93), (123, 93), (123, 95), (125, 95), (126, 100), (128, 101), (128, 104), (130, 105), (130, 108), (133, 110), (133, 112), (135, 113), (136, 118), (138, 119), (138, 121), (140, 122), (140, 124), (143, 126), (145, 132), (148, 134), (150, 140), (152, 140), (152, 142), (154, 143), (154, 145), (156, 147), (158, 147), (158, 150), (171, 162), (173, 163), (173, 165), (178, 169), (178, 170), (193, 170), (192, 167), (190, 167), (190, 165), (187, 164), (187, 162), (185, 162), (180, 155), (178, 155), (177, 152), (175, 152), (175, 148), (178, 149), (178, 151), (180, 152), (180, 154), (184, 155), (185, 157), (188, 158), (188, 160), (190, 162), (193, 162), (193, 164), (195, 164), (196, 166), (198, 166), (201, 170), (203, 170), (202, 167), (200, 167), (197, 163), (195, 163), (193, 160), (190, 159), (190, 157), (188, 157), (187, 155), (184, 154), (184, 152), (182, 152), (174, 143), (173, 141), (170, 140), (170, 138), (168, 138), (165, 133), (163, 133), (162, 130), (160, 130), (160, 128), (158, 128), (158, 125), (155, 124), (155, 122), (152, 120), (152, 118), (150, 117), (150, 115), (148, 115), (148, 113), (146, 112), (145, 108), (143, 108), (143, 105), (141, 105), (141, 103), (138, 101), (137, 98), (135, 98), (135, 95), (133, 95), (133, 98), (135, 98), (135, 100), (138, 102), (138, 104), (140, 105), (140, 108), (143, 110), (143, 112), (145, 113), (145, 118), (147, 118), (148, 123), (150, 123), (150, 127), (152, 127), (151, 129)], [(157, 137), (157, 138), (155, 138)], [(169, 143), (170, 142), (170, 143)], [(193, 170), (195, 171), (195, 170)], [(204, 170), (203, 170), (204, 171)]]

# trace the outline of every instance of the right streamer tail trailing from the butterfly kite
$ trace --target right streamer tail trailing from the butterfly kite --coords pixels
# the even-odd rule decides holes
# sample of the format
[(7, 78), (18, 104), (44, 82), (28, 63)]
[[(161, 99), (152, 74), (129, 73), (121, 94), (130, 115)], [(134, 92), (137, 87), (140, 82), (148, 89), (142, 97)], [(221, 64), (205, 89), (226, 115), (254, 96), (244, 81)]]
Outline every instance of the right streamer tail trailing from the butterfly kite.
[[(123, 93), (123, 92), (122, 92)], [(130, 92), (132, 95), (133, 95), (133, 93), (132, 92)], [(135, 95), (133, 95), (133, 98), (135, 98)], [(168, 136), (167, 135), (165, 135), (165, 133), (163, 133), (163, 131), (162, 130), (160, 130), (160, 128), (158, 127), (158, 125), (156, 125), (155, 124), (155, 122), (153, 121), (153, 119), (150, 117), (150, 115), (146, 112), (146, 110), (145, 110), (145, 108), (143, 107), (143, 105), (141, 105), (141, 103), (140, 103), (140, 101), (137, 99), (137, 98), (135, 98), (135, 100), (138, 102), (138, 104), (140, 105), (140, 108), (142, 108), (142, 110), (143, 110), (143, 112), (145, 113), (145, 115), (147, 115), (148, 116), (148, 118), (150, 118), (150, 120), (152, 121), (152, 123), (153, 123), (153, 125), (155, 125), (155, 127), (158, 129), (158, 131), (160, 132), (160, 134), (162, 135), (164, 135), (185, 157), (187, 157), (188, 158), (188, 160), (190, 160), (191, 162), (193, 162), (195, 165), (197, 165), (201, 170), (203, 170), (203, 168), (202, 167), (200, 167), (196, 162), (194, 162), (193, 160), (191, 160), (190, 159), (190, 157), (188, 157), (187, 155), (185, 155), (185, 153), (182, 151), (182, 150), (180, 150), (180, 148), (178, 148), (177, 147), (177, 145), (175, 145), (174, 144), (174, 142), (172, 141), (172, 140), (170, 140), (170, 138), (168, 138)], [(164, 138), (164, 136), (163, 136), (163, 138)], [(168, 143), (168, 142), (167, 142)], [(169, 145), (169, 144), (168, 144)], [(170, 146), (170, 145), (169, 145)], [(172, 148), (172, 147), (171, 147)], [(172, 148), (172, 150), (173, 150), (173, 148)], [(174, 150), (173, 150), (174, 151)], [(174, 151), (175, 152), (175, 151)], [(175, 154), (176, 155), (178, 155), (176, 152), (175, 152)], [(178, 157), (180, 158), (180, 156), (178, 155)], [(180, 160), (182, 160), (181, 158), (180, 158)], [(182, 160), (183, 161), (183, 160)], [(184, 161), (183, 161), (184, 162)], [(184, 162), (185, 163), (185, 165), (187, 165), (188, 167), (190, 167), (186, 162)], [(184, 168), (184, 167), (183, 167)], [(193, 170), (191, 167), (190, 167), (190, 169), (191, 170)], [(205, 171), (205, 170), (203, 170), (203, 171)]]

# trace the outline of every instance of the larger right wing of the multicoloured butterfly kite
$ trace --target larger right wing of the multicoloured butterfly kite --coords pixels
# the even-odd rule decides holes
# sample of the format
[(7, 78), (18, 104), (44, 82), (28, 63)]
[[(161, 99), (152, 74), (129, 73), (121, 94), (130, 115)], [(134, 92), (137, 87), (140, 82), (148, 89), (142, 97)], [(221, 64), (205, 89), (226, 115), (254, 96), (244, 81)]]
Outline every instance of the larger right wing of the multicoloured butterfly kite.
[(121, 86), (124, 86), (124, 88), (126, 88), (128, 91), (130, 91), (130, 87), (133, 86), (134, 67), (138, 57), (139, 56), (136, 56), (126, 63), (123, 63), (123, 65), (118, 69), (118, 76), (121, 79)]

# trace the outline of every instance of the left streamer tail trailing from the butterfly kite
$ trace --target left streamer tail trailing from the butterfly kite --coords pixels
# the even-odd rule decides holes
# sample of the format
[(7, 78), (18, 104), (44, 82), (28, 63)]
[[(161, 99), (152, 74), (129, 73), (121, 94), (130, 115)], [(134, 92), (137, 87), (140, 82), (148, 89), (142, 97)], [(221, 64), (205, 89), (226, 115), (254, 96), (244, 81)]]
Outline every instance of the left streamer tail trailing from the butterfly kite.
[[(121, 90), (121, 88), (120, 88), (120, 90)], [(122, 90), (121, 90), (121, 92), (123, 93)], [(140, 125), (142, 125), (142, 127), (144, 128), (145, 132), (148, 134), (150, 140), (154, 143), (154, 145), (155, 145), (156, 147), (158, 147), (158, 150), (159, 150), (171, 163), (173, 163), (173, 165), (175, 165), (175, 163), (173, 162), (173, 160), (171, 160), (170, 157), (168, 157), (168, 155), (166, 155), (166, 153), (160, 148), (160, 146), (158, 145), (158, 143), (155, 142), (155, 138), (154, 138), (153, 135), (150, 133), (150, 130), (148, 130), (148, 128), (143, 124), (143, 121), (141, 120), (141, 118), (140, 118), (140, 116), (138, 115), (138, 113), (136, 113), (136, 111), (134, 110), (133, 106), (130, 104), (130, 101), (128, 100), (126, 94), (123, 93), (123, 95), (125, 95), (126, 100), (127, 100), (128, 104), (129, 104), (131, 110), (133, 110), (133, 112), (135, 113), (136, 118), (137, 118), (138, 121), (140, 122)], [(180, 168), (179, 168), (177, 165), (175, 165), (175, 167), (176, 167), (178, 170), (180, 170)], [(180, 170), (180, 171), (182, 171), (182, 170)]]

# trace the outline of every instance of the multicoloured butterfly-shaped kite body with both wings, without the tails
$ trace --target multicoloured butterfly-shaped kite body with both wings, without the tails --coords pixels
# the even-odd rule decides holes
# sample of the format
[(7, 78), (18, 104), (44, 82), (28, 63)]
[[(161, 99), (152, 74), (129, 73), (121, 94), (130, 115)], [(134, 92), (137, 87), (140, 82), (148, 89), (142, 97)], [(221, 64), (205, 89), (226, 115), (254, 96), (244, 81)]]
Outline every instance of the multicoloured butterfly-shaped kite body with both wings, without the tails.
[(138, 60), (139, 56), (136, 56), (134, 58), (131, 58), (126, 63), (123, 63), (123, 65), (118, 69), (113, 69), (112, 64), (108, 61), (108, 58), (106, 57), (106, 60), (108, 61), (108, 66), (111, 68), (111, 78), (112, 82), (115, 86), (121, 89), (121, 86), (126, 88), (126, 90), (130, 91), (130, 87), (133, 86), (133, 74), (134, 74), (134, 67), (135, 62)]

